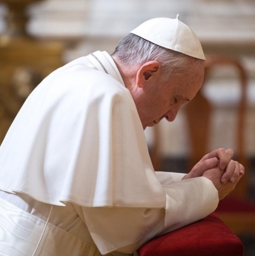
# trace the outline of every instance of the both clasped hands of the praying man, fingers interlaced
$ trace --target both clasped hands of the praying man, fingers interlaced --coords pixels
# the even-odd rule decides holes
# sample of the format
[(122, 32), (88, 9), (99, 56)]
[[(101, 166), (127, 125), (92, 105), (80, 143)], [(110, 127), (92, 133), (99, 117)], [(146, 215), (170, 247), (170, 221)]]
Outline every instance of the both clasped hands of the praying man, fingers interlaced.
[(184, 176), (183, 179), (206, 177), (211, 180), (223, 199), (231, 192), (244, 174), (244, 166), (232, 157), (232, 149), (215, 149), (208, 153)]

